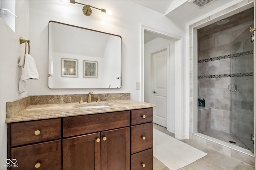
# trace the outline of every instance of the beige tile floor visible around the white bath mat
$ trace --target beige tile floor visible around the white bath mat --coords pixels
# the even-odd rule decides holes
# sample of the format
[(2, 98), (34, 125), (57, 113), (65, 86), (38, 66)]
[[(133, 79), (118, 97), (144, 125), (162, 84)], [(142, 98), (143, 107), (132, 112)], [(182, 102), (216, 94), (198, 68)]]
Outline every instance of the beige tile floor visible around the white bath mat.
[[(174, 137), (173, 133), (168, 132), (166, 128), (162, 126), (154, 124), (154, 128)], [(187, 143), (188, 145), (191, 145), (192, 147), (195, 147), (197, 149), (200, 149), (203, 152), (206, 152), (207, 155), (193, 162), (192, 164), (180, 168), (179, 170), (255, 170), (255, 167), (250, 166), (249, 164), (241, 162), (240, 160), (234, 159), (230, 156), (226, 156), (207, 147), (202, 147), (201, 145), (198, 145), (188, 139), (182, 140), (182, 142)], [(154, 157), (153, 170), (170, 169)]]

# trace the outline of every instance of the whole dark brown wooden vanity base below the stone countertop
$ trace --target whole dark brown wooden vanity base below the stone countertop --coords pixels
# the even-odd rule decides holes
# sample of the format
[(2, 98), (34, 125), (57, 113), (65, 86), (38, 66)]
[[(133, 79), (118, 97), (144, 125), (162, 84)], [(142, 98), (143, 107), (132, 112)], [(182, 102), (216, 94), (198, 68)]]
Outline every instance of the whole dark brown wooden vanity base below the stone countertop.
[(9, 122), (8, 168), (152, 170), (153, 108), (127, 108)]

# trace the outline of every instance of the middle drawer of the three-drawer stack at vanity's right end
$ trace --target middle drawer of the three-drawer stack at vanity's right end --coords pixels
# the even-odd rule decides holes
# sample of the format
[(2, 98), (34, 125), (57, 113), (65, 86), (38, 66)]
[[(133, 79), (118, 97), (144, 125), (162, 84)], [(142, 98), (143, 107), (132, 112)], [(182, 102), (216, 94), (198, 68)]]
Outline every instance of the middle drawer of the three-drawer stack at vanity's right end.
[(131, 153), (153, 147), (153, 122), (131, 127)]

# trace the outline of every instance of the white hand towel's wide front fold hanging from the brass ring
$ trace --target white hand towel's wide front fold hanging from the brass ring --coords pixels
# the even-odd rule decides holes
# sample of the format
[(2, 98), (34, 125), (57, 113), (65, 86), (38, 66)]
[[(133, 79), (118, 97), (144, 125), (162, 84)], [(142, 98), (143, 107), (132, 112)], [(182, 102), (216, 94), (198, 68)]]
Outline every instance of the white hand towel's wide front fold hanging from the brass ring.
[(39, 74), (36, 69), (36, 63), (34, 59), (28, 53), (26, 53), (24, 70), (21, 75), (21, 80), (32, 80), (32, 79), (39, 79)]

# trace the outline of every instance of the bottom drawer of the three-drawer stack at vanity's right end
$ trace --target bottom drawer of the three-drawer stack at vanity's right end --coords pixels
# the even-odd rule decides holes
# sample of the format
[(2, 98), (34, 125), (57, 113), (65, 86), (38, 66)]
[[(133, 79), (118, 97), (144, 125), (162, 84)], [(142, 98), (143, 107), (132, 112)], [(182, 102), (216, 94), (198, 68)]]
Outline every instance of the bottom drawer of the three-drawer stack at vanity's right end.
[(131, 170), (152, 170), (153, 148), (132, 154)]

